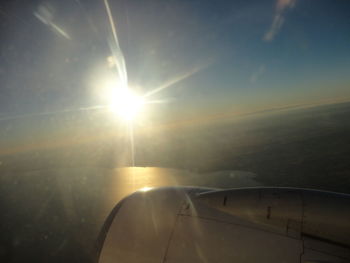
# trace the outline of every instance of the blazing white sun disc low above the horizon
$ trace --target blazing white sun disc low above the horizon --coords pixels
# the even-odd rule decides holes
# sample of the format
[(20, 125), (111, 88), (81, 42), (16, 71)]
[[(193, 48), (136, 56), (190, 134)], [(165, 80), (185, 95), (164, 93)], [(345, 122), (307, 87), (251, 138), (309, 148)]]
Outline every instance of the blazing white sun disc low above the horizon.
[(121, 119), (132, 122), (142, 112), (145, 100), (129, 88), (114, 88), (111, 91), (110, 110)]

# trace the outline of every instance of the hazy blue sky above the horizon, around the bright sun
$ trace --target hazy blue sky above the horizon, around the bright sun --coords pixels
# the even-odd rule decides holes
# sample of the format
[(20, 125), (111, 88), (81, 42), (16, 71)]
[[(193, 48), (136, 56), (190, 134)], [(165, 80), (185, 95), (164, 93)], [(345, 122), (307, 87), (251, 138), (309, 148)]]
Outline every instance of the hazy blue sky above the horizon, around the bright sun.
[[(349, 1), (109, 6), (130, 88), (158, 91), (156, 120), (350, 99)], [(106, 103), (116, 71), (103, 0), (2, 1), (0, 32), (0, 118)]]

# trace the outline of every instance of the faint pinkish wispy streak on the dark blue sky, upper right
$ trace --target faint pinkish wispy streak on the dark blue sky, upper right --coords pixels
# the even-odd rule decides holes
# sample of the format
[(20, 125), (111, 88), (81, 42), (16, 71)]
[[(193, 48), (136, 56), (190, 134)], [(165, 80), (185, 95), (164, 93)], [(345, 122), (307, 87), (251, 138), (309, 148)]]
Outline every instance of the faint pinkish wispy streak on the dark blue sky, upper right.
[(284, 24), (285, 13), (295, 6), (296, 0), (277, 0), (275, 14), (270, 28), (264, 34), (264, 41), (272, 41)]

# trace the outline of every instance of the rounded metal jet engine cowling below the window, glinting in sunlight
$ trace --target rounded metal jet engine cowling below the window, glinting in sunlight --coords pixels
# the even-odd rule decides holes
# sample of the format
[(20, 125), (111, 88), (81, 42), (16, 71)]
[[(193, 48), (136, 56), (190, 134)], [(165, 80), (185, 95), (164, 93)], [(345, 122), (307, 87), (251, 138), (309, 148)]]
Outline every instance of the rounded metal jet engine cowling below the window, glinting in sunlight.
[(350, 262), (350, 195), (297, 188), (158, 188), (122, 200), (98, 262)]

